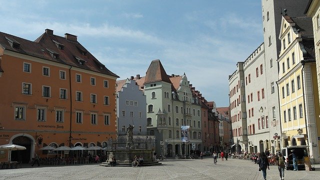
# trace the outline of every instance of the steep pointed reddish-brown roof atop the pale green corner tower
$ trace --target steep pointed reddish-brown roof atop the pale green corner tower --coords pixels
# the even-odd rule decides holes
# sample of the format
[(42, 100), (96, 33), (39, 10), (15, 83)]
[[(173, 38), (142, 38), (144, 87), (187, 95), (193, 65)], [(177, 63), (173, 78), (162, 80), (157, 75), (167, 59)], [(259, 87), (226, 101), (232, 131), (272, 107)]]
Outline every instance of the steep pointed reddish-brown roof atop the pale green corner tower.
[(171, 83), (159, 59), (152, 60), (145, 73), (144, 83), (164, 81)]

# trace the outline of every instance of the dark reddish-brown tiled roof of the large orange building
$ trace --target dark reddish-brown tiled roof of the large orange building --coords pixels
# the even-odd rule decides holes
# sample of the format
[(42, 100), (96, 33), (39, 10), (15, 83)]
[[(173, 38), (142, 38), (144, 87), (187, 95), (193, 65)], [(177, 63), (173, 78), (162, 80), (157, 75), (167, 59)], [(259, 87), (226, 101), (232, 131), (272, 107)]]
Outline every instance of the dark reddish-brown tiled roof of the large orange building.
[[(13, 48), (9, 41), (17, 42), (19, 47)], [(63, 50), (58, 48), (56, 42), (64, 45)], [(6, 50), (119, 77), (99, 62), (78, 41), (67, 40), (65, 37), (48, 34), (47, 32), (40, 35), (35, 41), (0, 32), (0, 46)], [(86, 54), (82, 55), (81, 51), (86, 51)], [(50, 53), (57, 53), (58, 58), (53, 58)], [(83, 65), (79, 64), (76, 57), (83, 59), (85, 63)]]

